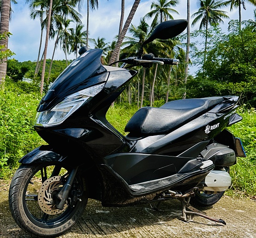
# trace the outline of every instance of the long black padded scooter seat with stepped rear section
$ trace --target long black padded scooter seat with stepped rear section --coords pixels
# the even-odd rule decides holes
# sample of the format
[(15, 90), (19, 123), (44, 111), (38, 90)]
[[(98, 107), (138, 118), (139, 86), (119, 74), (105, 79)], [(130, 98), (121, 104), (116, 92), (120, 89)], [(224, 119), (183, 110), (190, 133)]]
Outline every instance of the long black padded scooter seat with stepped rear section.
[(140, 108), (128, 121), (125, 131), (135, 136), (165, 134), (223, 101), (223, 97), (193, 98), (171, 101), (160, 108)]

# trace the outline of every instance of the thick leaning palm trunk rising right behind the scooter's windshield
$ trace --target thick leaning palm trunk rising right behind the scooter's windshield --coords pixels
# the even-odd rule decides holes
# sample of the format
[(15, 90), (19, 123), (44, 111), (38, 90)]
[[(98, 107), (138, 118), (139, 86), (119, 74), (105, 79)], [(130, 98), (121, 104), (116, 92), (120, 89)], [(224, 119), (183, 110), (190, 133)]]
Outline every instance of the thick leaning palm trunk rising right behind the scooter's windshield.
[(112, 64), (112, 63), (115, 61), (115, 59), (117, 59), (118, 50), (119, 50), (120, 47), (121, 47), (122, 40), (123, 40), (123, 38), (124, 38), (124, 36), (125, 36), (127, 30), (128, 30), (128, 27), (130, 26), (130, 23), (131, 23), (131, 21), (132, 21), (132, 19), (133, 19), (133, 17), (134, 17), (135, 11), (137, 10), (137, 8), (138, 8), (138, 6), (139, 6), (139, 2), (140, 2), (140, 0), (135, 0), (135, 1), (134, 1), (134, 5), (133, 5), (133, 7), (132, 7), (132, 9), (131, 9), (131, 11), (130, 11), (130, 13), (129, 13), (129, 16), (127, 17), (127, 20), (126, 20), (126, 22), (125, 22), (125, 24), (124, 24), (124, 27), (123, 27), (123, 29), (122, 29), (122, 32), (121, 32), (121, 34), (120, 34), (119, 37), (118, 37), (118, 40), (117, 40), (117, 44), (116, 44), (116, 46), (115, 46), (115, 49), (113, 50), (113, 53), (112, 53), (111, 58), (110, 58), (110, 60), (109, 60), (109, 63), (110, 63), (110, 64)]

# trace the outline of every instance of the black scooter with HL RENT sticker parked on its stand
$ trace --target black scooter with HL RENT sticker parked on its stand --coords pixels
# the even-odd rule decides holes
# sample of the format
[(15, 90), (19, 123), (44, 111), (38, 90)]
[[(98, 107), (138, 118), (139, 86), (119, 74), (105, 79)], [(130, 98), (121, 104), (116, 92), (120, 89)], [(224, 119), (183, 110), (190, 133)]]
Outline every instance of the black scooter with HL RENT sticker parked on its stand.
[[(143, 43), (177, 36), (186, 20), (162, 22)], [(106, 112), (137, 74), (128, 68), (177, 65), (144, 54), (100, 63), (101, 49), (80, 56), (56, 79), (37, 108), (34, 129), (48, 143), (22, 157), (10, 186), (11, 214), (27, 233), (54, 237), (78, 220), (88, 198), (102, 206), (132, 206), (179, 199), (182, 219), (204, 216), (191, 204), (211, 206), (231, 184), (229, 167), (245, 153), (226, 128), (240, 121), (239, 97), (206, 97), (140, 108), (127, 136)], [(143, 55), (143, 56), (142, 56)], [(190, 199), (191, 198), (191, 199)], [(187, 211), (193, 210), (193, 211)]]

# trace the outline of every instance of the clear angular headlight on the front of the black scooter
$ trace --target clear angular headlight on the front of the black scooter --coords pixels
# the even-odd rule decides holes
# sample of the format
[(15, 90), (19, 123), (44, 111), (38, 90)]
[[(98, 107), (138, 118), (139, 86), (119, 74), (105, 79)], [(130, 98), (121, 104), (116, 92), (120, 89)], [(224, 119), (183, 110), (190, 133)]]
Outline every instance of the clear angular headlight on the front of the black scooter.
[(105, 83), (98, 84), (73, 93), (72, 95), (65, 97), (61, 103), (58, 103), (50, 111), (37, 113), (35, 125), (46, 127), (61, 124), (67, 117), (82, 106), (89, 97), (94, 97), (98, 94), (104, 85)]

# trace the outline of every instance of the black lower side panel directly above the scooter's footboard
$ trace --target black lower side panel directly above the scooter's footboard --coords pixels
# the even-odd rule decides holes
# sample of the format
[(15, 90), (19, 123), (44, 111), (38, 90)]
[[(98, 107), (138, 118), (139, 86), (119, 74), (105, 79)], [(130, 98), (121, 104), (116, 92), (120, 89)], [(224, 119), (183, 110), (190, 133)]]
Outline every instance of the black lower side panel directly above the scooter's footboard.
[(104, 163), (128, 185), (161, 179), (176, 173), (200, 170), (202, 162), (191, 157), (171, 157), (141, 153), (119, 153), (104, 158)]

